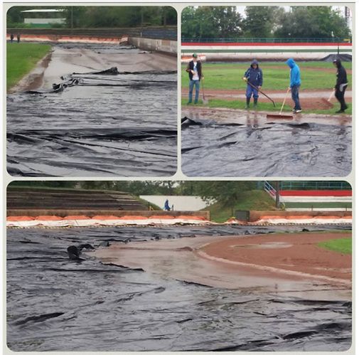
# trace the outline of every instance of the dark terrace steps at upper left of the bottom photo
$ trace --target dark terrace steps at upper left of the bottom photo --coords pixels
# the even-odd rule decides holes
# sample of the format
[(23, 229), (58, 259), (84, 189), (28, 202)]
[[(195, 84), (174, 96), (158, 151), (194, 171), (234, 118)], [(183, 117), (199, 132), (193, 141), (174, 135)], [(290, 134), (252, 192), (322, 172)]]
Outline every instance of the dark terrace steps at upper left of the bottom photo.
[(8, 188), (8, 210), (36, 208), (124, 211), (146, 211), (148, 209), (134, 196), (121, 191)]

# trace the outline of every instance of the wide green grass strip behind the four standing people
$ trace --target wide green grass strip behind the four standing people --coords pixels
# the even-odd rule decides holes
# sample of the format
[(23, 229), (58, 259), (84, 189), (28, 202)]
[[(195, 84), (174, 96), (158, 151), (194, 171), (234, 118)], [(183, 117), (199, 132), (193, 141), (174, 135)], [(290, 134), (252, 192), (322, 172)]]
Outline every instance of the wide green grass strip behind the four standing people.
[[(351, 69), (351, 63), (343, 63), (346, 69)], [(246, 84), (242, 80), (245, 70), (250, 63), (203, 63), (205, 88), (213, 90), (245, 90)], [(289, 68), (284, 62), (259, 63), (263, 71), (262, 90), (283, 90), (289, 86)], [(299, 62), (301, 68), (301, 90), (330, 90), (336, 84), (336, 68), (333, 63)], [(316, 70), (325, 68), (326, 70)], [(330, 71), (328, 71), (330, 70)], [(182, 65), (182, 87), (188, 87), (188, 73), (186, 64)], [(348, 74), (351, 88), (351, 75)]]

